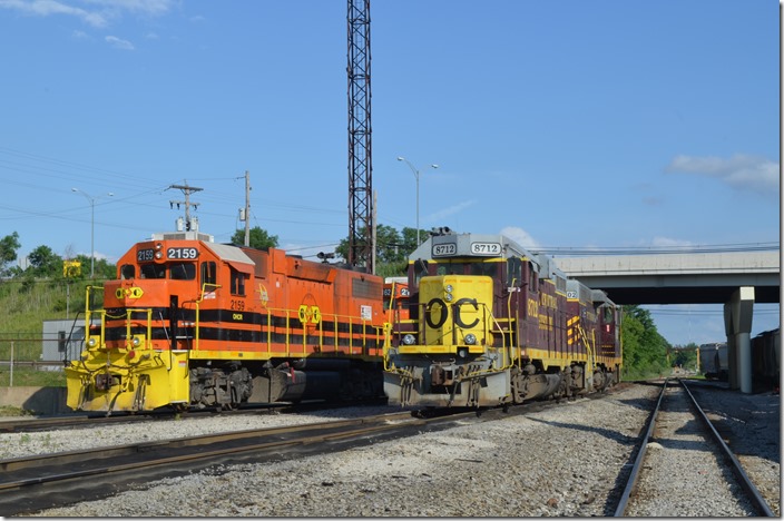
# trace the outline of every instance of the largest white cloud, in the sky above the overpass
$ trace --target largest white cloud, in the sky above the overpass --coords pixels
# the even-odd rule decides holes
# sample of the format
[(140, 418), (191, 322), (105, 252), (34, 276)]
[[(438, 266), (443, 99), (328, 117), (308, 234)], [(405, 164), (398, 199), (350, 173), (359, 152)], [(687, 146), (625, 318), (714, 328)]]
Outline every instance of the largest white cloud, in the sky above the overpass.
[(733, 188), (765, 195), (778, 194), (778, 163), (758, 156), (736, 154), (724, 159), (680, 155), (673, 159), (665, 171), (714, 177)]

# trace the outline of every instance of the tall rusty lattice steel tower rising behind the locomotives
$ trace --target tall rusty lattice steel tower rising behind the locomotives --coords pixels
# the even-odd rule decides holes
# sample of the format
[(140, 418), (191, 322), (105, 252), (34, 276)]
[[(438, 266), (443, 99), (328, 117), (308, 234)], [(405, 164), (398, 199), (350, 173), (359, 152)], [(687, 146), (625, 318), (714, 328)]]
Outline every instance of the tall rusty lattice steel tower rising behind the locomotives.
[(349, 0), (349, 264), (373, 273), (370, 0)]

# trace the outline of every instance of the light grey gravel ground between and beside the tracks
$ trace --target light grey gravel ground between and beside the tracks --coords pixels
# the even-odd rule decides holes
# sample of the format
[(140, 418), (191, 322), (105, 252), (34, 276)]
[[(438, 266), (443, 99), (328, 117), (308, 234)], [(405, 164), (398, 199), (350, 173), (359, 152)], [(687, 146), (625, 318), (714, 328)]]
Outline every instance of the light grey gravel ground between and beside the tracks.
[[(611, 515), (617, 498), (610, 494), (619, 475), (628, 474), (631, 451), (658, 390), (655, 385), (631, 385), (601, 400), (562, 402), (525, 416), (467, 424), (297, 461), (212, 469), (36, 515)], [(777, 403), (778, 397), (748, 400)], [(352, 412), (341, 410), (335, 414), (346, 417)], [(28, 450), (27, 453), (35, 453), (35, 448), (53, 452), (76, 449), (77, 444), (110, 445), (259, 426), (249, 422), (324, 420), (323, 414), (315, 419), (239, 416), (111, 425), (101, 427), (100, 433), (89, 429), (3, 434), (0, 450), (2, 458), (10, 458), (22, 455), (19, 449)], [(778, 430), (778, 422), (772, 426)], [(115, 433), (115, 429), (119, 432)], [(27, 436), (26, 441), (20, 436)], [(778, 454), (775, 461), (763, 460), (770, 474), (775, 471), (771, 479), (780, 482)], [(680, 515), (712, 513), (686, 510)]]

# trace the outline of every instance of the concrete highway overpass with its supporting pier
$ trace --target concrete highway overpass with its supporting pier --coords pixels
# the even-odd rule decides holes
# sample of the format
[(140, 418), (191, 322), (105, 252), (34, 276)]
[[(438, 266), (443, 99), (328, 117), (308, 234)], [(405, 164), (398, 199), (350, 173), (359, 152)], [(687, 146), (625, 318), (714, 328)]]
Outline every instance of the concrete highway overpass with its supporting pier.
[(731, 385), (752, 392), (754, 303), (781, 302), (781, 252), (559, 257), (558, 266), (616, 304), (724, 304)]

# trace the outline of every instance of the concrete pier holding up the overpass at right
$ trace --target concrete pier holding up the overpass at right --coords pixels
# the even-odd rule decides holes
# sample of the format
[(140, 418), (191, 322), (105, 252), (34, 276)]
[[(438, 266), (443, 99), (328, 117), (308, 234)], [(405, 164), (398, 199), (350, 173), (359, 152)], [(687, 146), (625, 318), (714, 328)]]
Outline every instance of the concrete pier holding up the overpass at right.
[(742, 286), (724, 304), (724, 328), (727, 333), (727, 372), (729, 389), (752, 392), (752, 316), (754, 287)]

